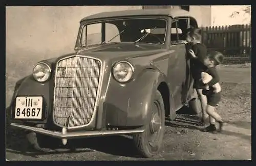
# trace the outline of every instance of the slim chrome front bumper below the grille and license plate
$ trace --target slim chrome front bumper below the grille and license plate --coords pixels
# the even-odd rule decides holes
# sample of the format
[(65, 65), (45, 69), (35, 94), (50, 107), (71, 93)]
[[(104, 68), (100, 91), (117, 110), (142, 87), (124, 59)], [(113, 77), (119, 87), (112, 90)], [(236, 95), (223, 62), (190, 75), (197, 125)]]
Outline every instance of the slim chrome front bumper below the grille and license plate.
[(66, 134), (62, 134), (59, 131), (50, 131), (42, 128), (20, 125), (17, 123), (11, 123), (11, 126), (33, 131), (40, 134), (50, 135), (59, 139), (78, 139), (78, 138), (89, 137), (89, 136), (132, 134), (132, 133), (144, 132), (144, 129), (133, 129), (133, 130), (109, 130), (109, 131), (76, 131), (76, 132), (67, 132)]

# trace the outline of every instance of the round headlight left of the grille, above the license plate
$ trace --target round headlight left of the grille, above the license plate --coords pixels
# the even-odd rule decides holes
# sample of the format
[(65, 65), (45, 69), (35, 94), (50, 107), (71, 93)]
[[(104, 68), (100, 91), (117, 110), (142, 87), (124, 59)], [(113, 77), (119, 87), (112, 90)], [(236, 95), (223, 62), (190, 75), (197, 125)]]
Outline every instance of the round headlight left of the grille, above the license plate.
[(51, 76), (50, 66), (44, 62), (37, 63), (33, 69), (33, 76), (38, 82), (47, 81)]

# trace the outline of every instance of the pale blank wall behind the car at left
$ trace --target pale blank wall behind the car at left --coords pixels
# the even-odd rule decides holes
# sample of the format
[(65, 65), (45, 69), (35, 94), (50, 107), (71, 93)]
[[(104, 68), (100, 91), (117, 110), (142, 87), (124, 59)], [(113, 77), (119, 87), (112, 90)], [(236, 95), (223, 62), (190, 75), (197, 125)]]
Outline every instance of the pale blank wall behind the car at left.
[(51, 57), (74, 49), (81, 18), (103, 11), (142, 9), (142, 6), (6, 7), (8, 56)]

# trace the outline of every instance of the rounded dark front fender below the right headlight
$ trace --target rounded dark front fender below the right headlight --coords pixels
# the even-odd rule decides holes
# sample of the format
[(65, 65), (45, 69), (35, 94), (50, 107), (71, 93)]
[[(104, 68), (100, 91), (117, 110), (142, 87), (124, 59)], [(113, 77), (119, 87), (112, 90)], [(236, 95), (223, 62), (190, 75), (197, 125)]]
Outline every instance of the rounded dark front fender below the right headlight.
[(145, 125), (157, 87), (164, 80), (164, 75), (153, 69), (145, 69), (126, 84), (120, 84), (111, 77), (104, 103), (106, 125)]

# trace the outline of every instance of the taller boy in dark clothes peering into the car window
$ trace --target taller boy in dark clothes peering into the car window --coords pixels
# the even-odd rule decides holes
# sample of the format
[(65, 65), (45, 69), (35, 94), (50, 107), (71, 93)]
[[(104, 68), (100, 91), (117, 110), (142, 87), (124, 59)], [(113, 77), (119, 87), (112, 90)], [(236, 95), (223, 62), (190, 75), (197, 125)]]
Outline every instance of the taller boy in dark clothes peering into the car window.
[[(203, 60), (206, 57), (207, 54), (207, 48), (204, 44), (201, 43), (201, 30), (200, 29), (194, 29), (190, 28), (187, 30), (187, 37), (186, 41), (188, 50), (192, 50), (197, 59), (191, 59), (191, 74), (194, 78), (194, 86), (193, 88), (196, 89), (199, 100), (201, 102), (202, 106), (202, 123), (205, 122), (205, 120), (209, 117), (208, 114), (205, 112), (206, 106), (207, 106), (207, 98), (205, 95), (203, 95), (202, 91), (204, 88), (204, 85), (202, 84), (201, 79), (201, 72), (205, 71), (207, 67), (203, 64)], [(190, 52), (189, 52), (190, 53)]]

